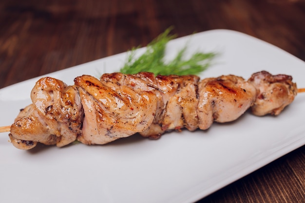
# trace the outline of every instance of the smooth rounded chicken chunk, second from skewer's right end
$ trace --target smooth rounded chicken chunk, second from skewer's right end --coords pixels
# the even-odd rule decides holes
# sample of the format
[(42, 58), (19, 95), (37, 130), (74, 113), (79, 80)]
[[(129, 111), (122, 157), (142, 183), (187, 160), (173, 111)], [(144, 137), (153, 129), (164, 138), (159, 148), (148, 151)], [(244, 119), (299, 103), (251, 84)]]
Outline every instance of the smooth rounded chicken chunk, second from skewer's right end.
[(203, 79), (199, 83), (198, 127), (208, 129), (214, 121), (236, 120), (253, 104), (256, 89), (235, 75)]

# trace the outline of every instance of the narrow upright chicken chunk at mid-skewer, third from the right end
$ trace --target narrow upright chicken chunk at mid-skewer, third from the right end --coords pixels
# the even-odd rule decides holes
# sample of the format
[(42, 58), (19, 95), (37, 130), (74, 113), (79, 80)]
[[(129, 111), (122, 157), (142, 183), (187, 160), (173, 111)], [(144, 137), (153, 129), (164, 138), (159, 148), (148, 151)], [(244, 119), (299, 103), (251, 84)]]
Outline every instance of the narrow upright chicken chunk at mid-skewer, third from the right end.
[(158, 89), (162, 92), (163, 103), (166, 104), (159, 118), (162, 130), (197, 129), (198, 116), (198, 81), (194, 75), (157, 76)]

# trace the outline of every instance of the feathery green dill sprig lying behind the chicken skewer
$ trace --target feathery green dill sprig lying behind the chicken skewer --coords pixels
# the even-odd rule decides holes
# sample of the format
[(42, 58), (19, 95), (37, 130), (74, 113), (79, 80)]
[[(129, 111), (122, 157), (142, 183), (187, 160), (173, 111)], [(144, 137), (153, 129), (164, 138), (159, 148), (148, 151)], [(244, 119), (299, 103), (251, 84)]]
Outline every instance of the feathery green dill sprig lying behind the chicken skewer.
[(187, 75), (200, 74), (210, 66), (210, 61), (215, 53), (196, 52), (189, 59), (184, 59), (187, 46), (181, 49), (169, 62), (164, 61), (167, 43), (175, 38), (169, 35), (171, 29), (167, 29), (151, 43), (143, 55), (135, 59), (136, 48), (129, 51), (126, 62), (120, 72), (123, 74), (137, 74), (139, 72), (152, 72), (155, 75)]

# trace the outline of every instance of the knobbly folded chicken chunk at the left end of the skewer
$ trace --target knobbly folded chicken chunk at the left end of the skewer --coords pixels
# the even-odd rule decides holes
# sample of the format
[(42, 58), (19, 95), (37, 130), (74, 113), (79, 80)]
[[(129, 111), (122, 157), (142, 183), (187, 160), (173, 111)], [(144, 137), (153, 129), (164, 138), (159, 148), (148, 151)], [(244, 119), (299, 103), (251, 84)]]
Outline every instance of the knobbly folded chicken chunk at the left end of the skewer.
[(75, 86), (44, 77), (34, 86), (31, 99), (33, 104), (20, 111), (11, 127), (15, 144), (27, 140), (62, 147), (81, 134), (83, 110)]

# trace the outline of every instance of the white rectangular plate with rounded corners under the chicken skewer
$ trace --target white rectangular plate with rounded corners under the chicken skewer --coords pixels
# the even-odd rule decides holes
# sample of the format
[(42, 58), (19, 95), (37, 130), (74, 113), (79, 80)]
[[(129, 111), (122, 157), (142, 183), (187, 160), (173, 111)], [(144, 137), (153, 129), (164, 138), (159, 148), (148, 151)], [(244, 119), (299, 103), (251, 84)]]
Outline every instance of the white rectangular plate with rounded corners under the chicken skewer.
[[(220, 55), (201, 77), (261, 70), (290, 74), (305, 87), (305, 63), (248, 35), (211, 30), (169, 43), (167, 57), (188, 43), (189, 53)], [(143, 52), (145, 48), (139, 50)], [(126, 53), (48, 76), (73, 84), (81, 74), (98, 77), (119, 71)], [(0, 90), (0, 126), (11, 125), (30, 104), (38, 78)], [(279, 116), (245, 113), (209, 130), (167, 133), (157, 141), (131, 136), (105, 146), (38, 146), (23, 151), (0, 134), (0, 200), (23, 203), (191, 203), (305, 144), (305, 93)]]

